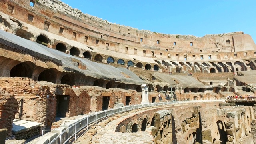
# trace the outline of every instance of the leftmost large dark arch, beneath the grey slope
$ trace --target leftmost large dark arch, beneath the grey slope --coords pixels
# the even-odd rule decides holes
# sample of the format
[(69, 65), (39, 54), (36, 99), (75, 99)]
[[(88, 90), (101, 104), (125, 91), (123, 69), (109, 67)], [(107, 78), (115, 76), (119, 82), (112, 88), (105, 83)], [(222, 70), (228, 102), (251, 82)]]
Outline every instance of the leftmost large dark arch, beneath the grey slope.
[(35, 64), (33, 62), (22, 62), (14, 66), (10, 71), (10, 77), (32, 78)]

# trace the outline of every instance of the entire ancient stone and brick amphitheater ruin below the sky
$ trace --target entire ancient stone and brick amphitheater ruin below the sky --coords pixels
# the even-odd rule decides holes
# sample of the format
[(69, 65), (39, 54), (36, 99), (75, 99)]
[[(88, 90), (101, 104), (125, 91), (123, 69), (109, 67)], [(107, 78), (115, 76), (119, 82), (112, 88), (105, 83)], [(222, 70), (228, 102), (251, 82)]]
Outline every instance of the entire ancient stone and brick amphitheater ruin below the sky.
[(256, 143), (250, 35), (138, 30), (59, 0), (0, 5), (0, 144)]

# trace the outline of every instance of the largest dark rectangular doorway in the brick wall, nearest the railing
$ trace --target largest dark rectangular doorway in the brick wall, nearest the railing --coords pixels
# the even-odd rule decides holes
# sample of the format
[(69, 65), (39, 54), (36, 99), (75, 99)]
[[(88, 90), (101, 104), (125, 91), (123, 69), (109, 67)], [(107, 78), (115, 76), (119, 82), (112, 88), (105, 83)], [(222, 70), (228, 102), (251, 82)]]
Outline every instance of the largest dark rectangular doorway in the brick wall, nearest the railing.
[(67, 95), (57, 95), (56, 117), (66, 117), (69, 112), (69, 99)]

